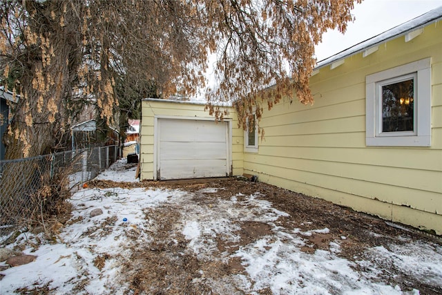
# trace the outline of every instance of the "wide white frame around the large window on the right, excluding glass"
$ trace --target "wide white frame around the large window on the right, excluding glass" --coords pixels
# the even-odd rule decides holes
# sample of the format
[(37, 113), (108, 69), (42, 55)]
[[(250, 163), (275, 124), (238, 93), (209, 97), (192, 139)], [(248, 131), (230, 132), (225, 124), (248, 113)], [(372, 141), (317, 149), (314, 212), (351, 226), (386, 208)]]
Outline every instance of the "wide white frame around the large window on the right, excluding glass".
[[(382, 86), (414, 77), (414, 130), (382, 132)], [(365, 77), (367, 146), (431, 146), (431, 58)]]

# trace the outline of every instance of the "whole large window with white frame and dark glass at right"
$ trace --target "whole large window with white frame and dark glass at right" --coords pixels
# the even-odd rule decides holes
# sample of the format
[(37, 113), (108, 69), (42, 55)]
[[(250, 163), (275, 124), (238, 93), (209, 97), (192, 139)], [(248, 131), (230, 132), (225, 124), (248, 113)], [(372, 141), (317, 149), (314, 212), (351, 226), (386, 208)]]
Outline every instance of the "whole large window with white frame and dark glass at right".
[(430, 61), (366, 77), (367, 146), (431, 145)]

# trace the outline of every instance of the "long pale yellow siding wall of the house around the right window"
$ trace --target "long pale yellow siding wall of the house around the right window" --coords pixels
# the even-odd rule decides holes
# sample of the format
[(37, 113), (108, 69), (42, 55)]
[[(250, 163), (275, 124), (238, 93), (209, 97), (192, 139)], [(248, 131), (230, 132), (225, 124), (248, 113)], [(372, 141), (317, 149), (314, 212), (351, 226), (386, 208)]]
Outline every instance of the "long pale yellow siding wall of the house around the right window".
[[(405, 43), (398, 37), (367, 57), (347, 57), (311, 77), (314, 105), (265, 111), (265, 140), (244, 153), (244, 173), (357, 211), (442, 234), (442, 23)], [(365, 77), (431, 57), (429, 147), (367, 146)]]

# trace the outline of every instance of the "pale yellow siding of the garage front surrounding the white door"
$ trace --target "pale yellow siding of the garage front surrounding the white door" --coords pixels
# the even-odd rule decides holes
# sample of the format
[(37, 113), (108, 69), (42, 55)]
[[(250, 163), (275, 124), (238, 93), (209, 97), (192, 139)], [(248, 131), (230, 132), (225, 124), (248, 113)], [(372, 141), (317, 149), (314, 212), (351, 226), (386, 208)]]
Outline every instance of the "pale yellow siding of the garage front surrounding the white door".
[[(155, 118), (214, 120), (204, 104), (195, 102), (173, 102), (166, 99), (144, 99), (142, 102), (142, 123), (140, 131), (140, 162), (142, 180), (154, 179)], [(243, 131), (238, 129), (238, 117), (229, 108), (226, 120), (231, 121), (231, 165), (233, 175), (242, 175)]]

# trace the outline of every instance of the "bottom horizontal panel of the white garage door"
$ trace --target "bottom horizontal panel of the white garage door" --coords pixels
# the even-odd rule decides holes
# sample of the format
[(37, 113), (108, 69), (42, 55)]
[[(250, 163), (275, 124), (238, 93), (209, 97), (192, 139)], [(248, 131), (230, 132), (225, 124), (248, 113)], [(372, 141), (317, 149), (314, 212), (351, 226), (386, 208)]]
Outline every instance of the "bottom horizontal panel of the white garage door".
[(160, 172), (162, 180), (207, 178), (226, 175), (225, 160), (164, 160)]

